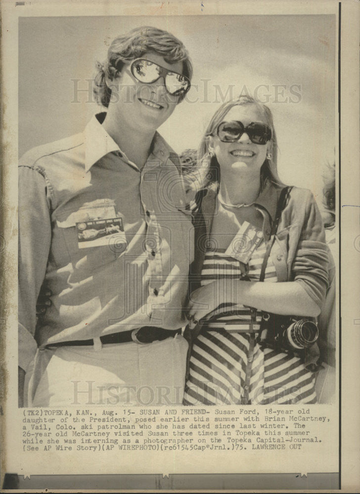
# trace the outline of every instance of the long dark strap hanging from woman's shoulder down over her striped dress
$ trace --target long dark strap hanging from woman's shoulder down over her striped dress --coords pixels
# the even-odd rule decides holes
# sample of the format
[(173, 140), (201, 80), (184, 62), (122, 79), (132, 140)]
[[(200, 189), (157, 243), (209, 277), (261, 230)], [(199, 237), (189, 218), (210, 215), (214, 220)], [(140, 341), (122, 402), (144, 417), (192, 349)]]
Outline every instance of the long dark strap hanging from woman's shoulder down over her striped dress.
[[(277, 227), (278, 227), (278, 224), (280, 221), (281, 213), (282, 213), (282, 211), (286, 205), (286, 201), (289, 197), (291, 189), (292, 189), (292, 186), (284, 187), (280, 193), (280, 197), (279, 197), (279, 200), (278, 200), (277, 206), (276, 206), (275, 219), (272, 223), (270, 242), (269, 242), (267, 249), (265, 251), (263, 264), (261, 266), (259, 281), (264, 281), (264, 279), (265, 279), (265, 271), (266, 271), (266, 267), (268, 265), (270, 251), (271, 251), (272, 246), (274, 245), (275, 234), (276, 234)], [(257, 309), (255, 307), (250, 307), (250, 312), (251, 312), (251, 332), (250, 332), (250, 338), (249, 338), (248, 363), (246, 366), (245, 380), (244, 380), (244, 396), (241, 400), (241, 403), (243, 405), (246, 405), (249, 403), (251, 369), (252, 369), (252, 361), (254, 359), (255, 341), (256, 341), (256, 337), (257, 337), (257, 334), (252, 331), (254, 322), (256, 321)]]

